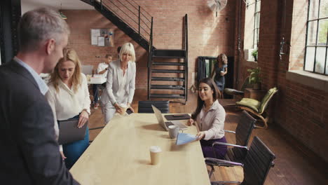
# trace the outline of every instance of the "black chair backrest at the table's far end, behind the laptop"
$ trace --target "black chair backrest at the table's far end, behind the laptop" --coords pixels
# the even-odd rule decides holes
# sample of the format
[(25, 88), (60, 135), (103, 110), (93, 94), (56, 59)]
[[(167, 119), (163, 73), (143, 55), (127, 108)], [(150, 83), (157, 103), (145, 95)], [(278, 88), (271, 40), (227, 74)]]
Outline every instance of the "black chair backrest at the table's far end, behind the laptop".
[(138, 102), (138, 113), (153, 113), (155, 106), (162, 113), (170, 113), (170, 101), (139, 101)]

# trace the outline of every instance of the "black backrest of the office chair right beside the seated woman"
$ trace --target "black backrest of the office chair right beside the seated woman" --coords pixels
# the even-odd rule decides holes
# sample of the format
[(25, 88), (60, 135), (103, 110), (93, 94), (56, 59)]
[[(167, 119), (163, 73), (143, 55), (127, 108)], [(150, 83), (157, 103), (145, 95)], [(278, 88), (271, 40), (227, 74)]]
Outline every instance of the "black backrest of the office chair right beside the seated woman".
[[(247, 111), (242, 111), (242, 114), (238, 116), (238, 119), (238, 125), (235, 129), (235, 142), (237, 145), (247, 146), (257, 120), (250, 116)], [(245, 158), (247, 153), (247, 149), (242, 149), (239, 147), (233, 147), (231, 150), (233, 151), (232, 160), (242, 160)]]

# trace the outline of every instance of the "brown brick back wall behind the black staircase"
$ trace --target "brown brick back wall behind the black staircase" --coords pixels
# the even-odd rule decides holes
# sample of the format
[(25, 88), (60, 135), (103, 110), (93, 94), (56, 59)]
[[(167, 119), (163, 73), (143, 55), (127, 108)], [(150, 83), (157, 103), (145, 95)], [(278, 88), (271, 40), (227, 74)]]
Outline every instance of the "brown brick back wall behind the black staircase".
[[(217, 56), (219, 53), (234, 55), (235, 1), (228, 1), (226, 8), (214, 13), (203, 0), (153, 1), (137, 0), (153, 16), (153, 46), (163, 49), (182, 49), (183, 17), (189, 16), (189, 87), (191, 73), (196, 70), (198, 56)], [(106, 53), (116, 55), (117, 46), (131, 41), (137, 53), (136, 88), (146, 88), (147, 54), (141, 46), (125, 35), (97, 11), (64, 11), (71, 27), (69, 46), (76, 49), (83, 64), (97, 66)], [(91, 28), (113, 28), (115, 47), (90, 45)], [(100, 56), (97, 58), (96, 56)]]

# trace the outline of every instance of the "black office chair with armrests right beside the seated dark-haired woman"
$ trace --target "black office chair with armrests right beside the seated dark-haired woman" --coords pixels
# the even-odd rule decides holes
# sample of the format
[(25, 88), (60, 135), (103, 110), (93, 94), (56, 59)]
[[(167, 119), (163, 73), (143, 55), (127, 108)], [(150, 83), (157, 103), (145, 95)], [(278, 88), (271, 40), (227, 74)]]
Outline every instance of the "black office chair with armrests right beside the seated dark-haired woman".
[[(235, 129), (235, 132), (230, 130), (224, 130), (224, 132), (234, 133), (235, 134), (235, 144), (228, 144), (224, 142), (214, 142), (212, 144), (213, 146), (213, 152), (214, 156), (217, 156), (214, 151), (214, 146), (217, 144), (226, 145), (226, 146), (233, 146), (231, 148), (228, 148), (228, 151), (226, 152), (226, 156), (224, 156), (224, 160), (229, 160), (232, 162), (242, 162), (242, 160), (245, 159), (247, 149), (248, 149), (248, 142), (250, 141), (250, 136), (252, 135), (252, 131), (255, 128), (255, 123), (257, 120), (250, 116), (250, 114), (247, 113), (247, 111), (242, 111), (240, 116), (238, 116), (238, 125)], [(211, 167), (211, 170), (209, 172), (209, 176), (211, 177), (214, 172), (214, 165), (212, 163), (206, 163)], [(224, 165), (226, 167), (229, 167), (231, 165)]]

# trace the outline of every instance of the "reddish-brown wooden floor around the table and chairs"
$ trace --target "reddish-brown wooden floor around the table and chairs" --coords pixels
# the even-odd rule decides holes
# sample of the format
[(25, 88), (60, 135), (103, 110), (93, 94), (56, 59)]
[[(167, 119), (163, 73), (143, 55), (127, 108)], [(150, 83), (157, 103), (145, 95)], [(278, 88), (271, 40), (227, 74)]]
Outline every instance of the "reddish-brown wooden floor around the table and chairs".
[[(191, 113), (196, 109), (197, 94), (189, 92), (186, 105), (170, 103), (171, 113)], [(136, 90), (132, 103), (137, 112), (137, 102), (146, 100), (146, 90)], [(220, 104), (228, 104), (231, 100), (219, 100)], [(104, 125), (101, 109), (92, 109), (90, 115), (90, 128)], [(226, 130), (235, 130), (235, 120), (239, 112), (226, 109)], [(90, 139), (97, 137), (100, 130), (90, 130)], [(300, 144), (287, 132), (275, 125), (269, 125), (267, 130), (254, 130), (252, 138), (258, 136), (275, 153), (275, 167), (271, 168), (266, 185), (271, 184), (328, 184), (327, 163), (318, 158), (315, 153)], [(226, 134), (229, 143), (234, 144), (234, 135)], [(242, 181), (242, 167), (217, 167), (212, 181), (238, 180)]]

